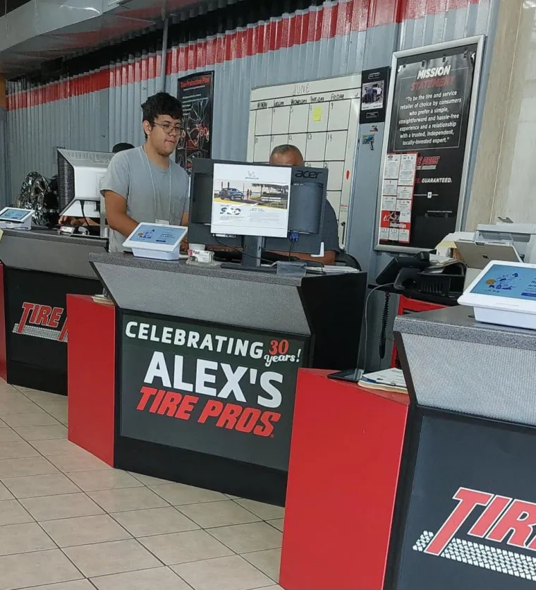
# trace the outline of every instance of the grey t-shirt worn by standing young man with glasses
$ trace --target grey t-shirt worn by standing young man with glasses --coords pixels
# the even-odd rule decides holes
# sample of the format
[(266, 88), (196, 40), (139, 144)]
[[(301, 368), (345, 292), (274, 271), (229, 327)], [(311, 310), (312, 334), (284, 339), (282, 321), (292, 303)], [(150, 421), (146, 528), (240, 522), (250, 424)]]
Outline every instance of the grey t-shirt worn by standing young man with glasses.
[[(171, 159), (165, 170), (152, 164), (143, 148), (135, 148), (113, 157), (102, 179), (101, 193), (114, 191), (126, 198), (126, 214), (137, 222), (159, 220), (180, 225), (183, 214), (188, 212), (189, 181), (185, 169)], [(127, 237), (110, 229), (109, 251), (123, 252)]]

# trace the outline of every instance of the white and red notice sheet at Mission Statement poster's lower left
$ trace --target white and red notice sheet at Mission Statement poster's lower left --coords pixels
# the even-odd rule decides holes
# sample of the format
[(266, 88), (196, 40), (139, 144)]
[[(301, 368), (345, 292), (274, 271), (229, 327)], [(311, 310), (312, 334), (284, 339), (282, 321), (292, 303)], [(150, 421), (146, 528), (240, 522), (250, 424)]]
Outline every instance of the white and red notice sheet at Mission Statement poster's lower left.
[(418, 154), (387, 154), (382, 187), (379, 239), (410, 243), (411, 209)]

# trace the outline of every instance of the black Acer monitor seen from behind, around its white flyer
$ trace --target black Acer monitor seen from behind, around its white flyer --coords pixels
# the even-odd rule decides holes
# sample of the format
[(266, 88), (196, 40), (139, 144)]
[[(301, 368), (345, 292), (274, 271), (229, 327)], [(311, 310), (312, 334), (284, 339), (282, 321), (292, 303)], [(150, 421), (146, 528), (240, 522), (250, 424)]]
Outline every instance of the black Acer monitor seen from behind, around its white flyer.
[[(227, 162), (213, 159), (193, 159), (190, 179), (190, 218), (188, 224), (188, 241), (207, 246), (229, 248), (246, 248), (248, 251), (248, 237), (235, 234), (214, 235), (211, 231), (214, 203), (214, 164), (230, 164), (237, 166), (248, 165), (247, 162)], [(269, 164), (249, 164), (267, 169)], [(218, 179), (217, 179), (218, 180)], [(324, 215), (326, 208), (328, 171), (324, 168), (292, 167), (290, 198), (288, 203), (288, 228), (286, 237), (265, 236), (262, 240), (264, 251), (293, 252), (305, 254), (319, 254), (322, 248), (322, 233), (324, 229)], [(229, 207), (240, 205), (248, 198), (243, 194), (242, 187), (223, 186), (221, 191), (225, 205)], [(261, 189), (262, 195), (255, 195), (259, 200), (269, 200), (271, 191)], [(234, 205), (233, 205), (234, 204)], [(298, 234), (293, 241), (289, 236)], [(249, 252), (249, 251), (248, 251)], [(255, 261), (255, 255), (243, 257), (243, 264)]]

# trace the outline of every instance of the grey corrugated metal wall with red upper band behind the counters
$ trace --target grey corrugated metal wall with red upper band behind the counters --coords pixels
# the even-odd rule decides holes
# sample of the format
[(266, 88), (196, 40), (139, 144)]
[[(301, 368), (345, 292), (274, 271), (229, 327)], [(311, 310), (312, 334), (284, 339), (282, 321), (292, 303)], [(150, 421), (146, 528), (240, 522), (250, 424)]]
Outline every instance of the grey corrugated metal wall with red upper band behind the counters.
[[(498, 2), (327, 1), (172, 46), (166, 90), (175, 93), (180, 76), (214, 70), (213, 157), (245, 159), (252, 88), (360, 72), (390, 65), (391, 54), (397, 49), (489, 34), (494, 30)], [(140, 144), (140, 104), (157, 90), (159, 60), (159, 54), (131, 56), (97, 73), (38, 88), (29, 88), (23, 82), (9, 83), (11, 195), (16, 194), (29, 171), (54, 174), (56, 145), (109, 150), (118, 141)], [(348, 251), (358, 257), (372, 278), (387, 260), (372, 247), (382, 126), (375, 148), (373, 152), (358, 152), (348, 230)], [(376, 342), (383, 300), (376, 296), (371, 303), (370, 337)], [(377, 351), (369, 348), (368, 353), (372, 357), (369, 366), (377, 365)]]

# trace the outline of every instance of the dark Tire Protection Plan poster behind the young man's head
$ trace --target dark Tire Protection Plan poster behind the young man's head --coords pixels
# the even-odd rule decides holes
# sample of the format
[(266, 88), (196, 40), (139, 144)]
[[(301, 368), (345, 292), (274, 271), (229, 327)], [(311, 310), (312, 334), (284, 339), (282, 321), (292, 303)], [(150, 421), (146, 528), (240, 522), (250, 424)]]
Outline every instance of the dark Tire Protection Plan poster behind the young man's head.
[(189, 174), (193, 158), (209, 158), (212, 155), (214, 72), (184, 76), (178, 79), (177, 84), (177, 97), (183, 105), (183, 120), (175, 161)]

